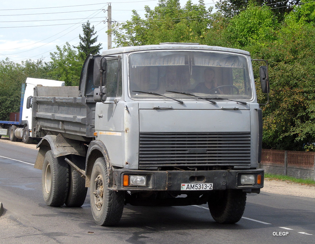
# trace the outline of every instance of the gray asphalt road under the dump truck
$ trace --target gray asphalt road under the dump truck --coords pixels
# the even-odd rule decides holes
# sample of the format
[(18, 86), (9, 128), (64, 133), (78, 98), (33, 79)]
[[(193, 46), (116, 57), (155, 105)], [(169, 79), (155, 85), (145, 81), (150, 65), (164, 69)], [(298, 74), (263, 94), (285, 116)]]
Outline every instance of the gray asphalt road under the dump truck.
[[(313, 198), (248, 194), (237, 224), (216, 223), (207, 205), (124, 208), (115, 227), (95, 224), (89, 197), (79, 208), (49, 207), (37, 150), (0, 140), (0, 243), (315, 243)], [(89, 196), (89, 193), (88, 193)]]

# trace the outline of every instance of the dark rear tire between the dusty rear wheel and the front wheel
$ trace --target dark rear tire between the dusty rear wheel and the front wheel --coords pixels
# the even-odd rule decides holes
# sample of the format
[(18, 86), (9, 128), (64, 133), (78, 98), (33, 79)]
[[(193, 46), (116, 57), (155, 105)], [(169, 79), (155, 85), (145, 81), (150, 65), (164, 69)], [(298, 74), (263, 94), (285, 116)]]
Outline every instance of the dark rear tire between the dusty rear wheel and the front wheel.
[[(85, 158), (71, 155), (70, 161), (80, 169), (85, 169)], [(85, 179), (73, 167), (69, 165), (69, 191), (65, 204), (68, 207), (81, 207), (85, 201), (88, 188), (85, 187)]]

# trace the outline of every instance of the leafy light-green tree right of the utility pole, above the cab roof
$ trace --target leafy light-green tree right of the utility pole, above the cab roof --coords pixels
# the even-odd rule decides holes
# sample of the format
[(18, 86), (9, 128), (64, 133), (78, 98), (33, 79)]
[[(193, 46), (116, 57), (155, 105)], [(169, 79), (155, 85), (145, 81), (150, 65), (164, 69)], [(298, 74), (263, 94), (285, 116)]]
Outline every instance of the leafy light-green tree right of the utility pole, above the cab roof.
[(146, 6), (145, 19), (134, 10), (131, 20), (114, 24), (112, 33), (117, 46), (150, 45), (164, 42), (201, 42), (210, 23), (210, 12), (203, 1), (188, 1), (180, 8), (179, 0), (160, 0), (157, 7)]

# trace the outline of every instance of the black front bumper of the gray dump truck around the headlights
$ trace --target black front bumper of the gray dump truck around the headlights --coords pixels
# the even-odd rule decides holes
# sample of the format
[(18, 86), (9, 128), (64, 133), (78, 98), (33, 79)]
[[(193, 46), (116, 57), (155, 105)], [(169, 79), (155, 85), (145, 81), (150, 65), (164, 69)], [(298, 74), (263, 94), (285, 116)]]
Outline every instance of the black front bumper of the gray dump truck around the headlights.
[[(146, 176), (146, 186), (124, 186), (123, 176), (144, 175)], [(242, 174), (254, 174), (256, 179), (261, 175), (261, 183), (240, 184)], [(246, 170), (210, 170), (210, 171), (147, 171), (115, 169), (113, 171), (113, 182), (110, 190), (129, 190), (129, 191), (180, 191), (182, 183), (213, 183), (213, 190), (243, 189), (259, 192), (264, 184), (263, 169)], [(254, 190), (256, 189), (256, 190)]]

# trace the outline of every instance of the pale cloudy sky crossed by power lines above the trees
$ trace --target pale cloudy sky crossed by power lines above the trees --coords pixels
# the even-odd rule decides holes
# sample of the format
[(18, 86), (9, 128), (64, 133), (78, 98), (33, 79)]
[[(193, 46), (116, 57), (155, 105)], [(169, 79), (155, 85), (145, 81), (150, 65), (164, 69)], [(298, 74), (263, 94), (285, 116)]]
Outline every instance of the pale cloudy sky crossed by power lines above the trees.
[[(184, 7), (187, 0), (180, 0)], [(132, 10), (144, 17), (144, 7), (157, 6), (158, 0), (115, 0), (112, 6), (112, 20), (130, 20)], [(192, 0), (198, 4), (198, 0)], [(207, 8), (214, 7), (214, 0), (204, 0)], [(79, 34), (83, 34), (82, 24), (88, 20), (94, 25), (97, 43), (102, 43), (101, 51), (107, 49), (107, 8), (102, 0), (30, 0), (1, 1), (0, 9), (0, 60), (9, 58), (20, 63), (24, 60), (42, 58), (50, 61), (50, 52), (66, 42), (77, 46)], [(106, 10), (106, 11), (104, 11)], [(105, 21), (105, 23), (104, 23)], [(115, 43), (112, 44), (115, 46)]]

